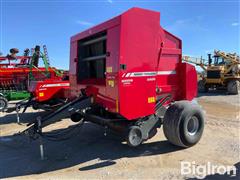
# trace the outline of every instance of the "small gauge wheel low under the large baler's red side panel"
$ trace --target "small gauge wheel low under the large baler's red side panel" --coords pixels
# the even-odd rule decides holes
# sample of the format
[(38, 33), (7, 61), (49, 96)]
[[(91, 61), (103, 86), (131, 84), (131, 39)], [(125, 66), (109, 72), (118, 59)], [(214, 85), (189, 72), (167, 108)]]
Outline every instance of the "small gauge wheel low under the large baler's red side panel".
[(127, 135), (127, 144), (131, 147), (137, 147), (142, 144), (142, 131), (138, 126), (131, 126)]

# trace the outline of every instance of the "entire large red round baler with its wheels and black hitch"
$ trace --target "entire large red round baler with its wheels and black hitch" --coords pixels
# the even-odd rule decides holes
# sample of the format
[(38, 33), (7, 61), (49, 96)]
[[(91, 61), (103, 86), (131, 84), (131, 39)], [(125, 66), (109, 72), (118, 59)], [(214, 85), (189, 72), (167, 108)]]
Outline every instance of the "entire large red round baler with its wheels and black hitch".
[(163, 125), (173, 144), (190, 147), (203, 133), (204, 117), (194, 66), (182, 62), (182, 42), (163, 29), (160, 13), (140, 8), (71, 37), (70, 100), (24, 132), (70, 117), (125, 135), (138, 146)]

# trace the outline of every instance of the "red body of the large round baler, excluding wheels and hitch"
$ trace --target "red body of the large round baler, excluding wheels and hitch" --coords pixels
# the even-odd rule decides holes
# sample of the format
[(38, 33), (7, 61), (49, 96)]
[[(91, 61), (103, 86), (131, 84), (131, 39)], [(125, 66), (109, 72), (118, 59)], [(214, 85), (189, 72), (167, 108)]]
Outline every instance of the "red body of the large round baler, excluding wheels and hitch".
[(195, 82), (186, 78), (196, 71), (182, 66), (181, 54), (181, 40), (160, 26), (159, 12), (132, 8), (71, 38), (71, 97), (86, 89), (96, 103), (128, 120), (154, 114), (164, 94), (192, 100)]

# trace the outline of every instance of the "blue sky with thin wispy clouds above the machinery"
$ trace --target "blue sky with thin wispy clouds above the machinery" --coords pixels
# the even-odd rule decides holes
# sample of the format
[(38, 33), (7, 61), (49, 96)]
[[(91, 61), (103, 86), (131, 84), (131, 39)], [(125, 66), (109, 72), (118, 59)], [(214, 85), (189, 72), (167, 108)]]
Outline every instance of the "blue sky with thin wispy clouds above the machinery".
[(0, 51), (48, 47), (51, 65), (68, 69), (70, 37), (131, 7), (161, 13), (160, 24), (183, 42), (183, 54), (240, 51), (239, 1), (0, 0)]

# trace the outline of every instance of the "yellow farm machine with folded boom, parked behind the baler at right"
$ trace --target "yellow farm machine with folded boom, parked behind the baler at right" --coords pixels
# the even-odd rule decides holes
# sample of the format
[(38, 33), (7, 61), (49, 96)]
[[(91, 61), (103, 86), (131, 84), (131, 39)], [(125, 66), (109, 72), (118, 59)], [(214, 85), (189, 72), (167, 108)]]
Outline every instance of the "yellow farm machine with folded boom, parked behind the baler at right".
[(215, 50), (208, 60), (183, 56), (183, 61), (200, 66), (204, 73), (198, 81), (199, 92), (209, 88), (227, 89), (228, 94), (240, 94), (240, 58), (236, 53)]

